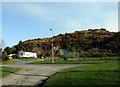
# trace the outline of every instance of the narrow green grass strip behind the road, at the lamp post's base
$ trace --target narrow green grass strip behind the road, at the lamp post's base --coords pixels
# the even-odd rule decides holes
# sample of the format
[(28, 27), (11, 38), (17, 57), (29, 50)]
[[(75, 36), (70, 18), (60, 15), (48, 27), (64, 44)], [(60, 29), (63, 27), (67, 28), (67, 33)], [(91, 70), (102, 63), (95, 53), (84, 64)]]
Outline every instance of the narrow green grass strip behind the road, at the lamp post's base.
[[(54, 64), (84, 64), (84, 63), (102, 63), (107, 60), (118, 60), (118, 57), (104, 58), (72, 58), (68, 60), (54, 60)], [(52, 60), (36, 61), (27, 64), (52, 64)]]

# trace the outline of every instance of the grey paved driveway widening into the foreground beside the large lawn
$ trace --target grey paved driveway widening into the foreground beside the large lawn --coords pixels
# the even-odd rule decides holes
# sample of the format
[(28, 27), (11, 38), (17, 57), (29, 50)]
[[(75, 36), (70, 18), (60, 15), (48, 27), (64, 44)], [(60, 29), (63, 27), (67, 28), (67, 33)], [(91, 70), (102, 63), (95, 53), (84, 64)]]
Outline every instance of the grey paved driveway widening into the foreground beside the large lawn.
[[(9, 67), (22, 68), (21, 71), (12, 73), (11, 75), (2, 79), (3, 85), (37, 85), (42, 83), (52, 74), (69, 67), (82, 66), (86, 64), (37, 64), (37, 65), (25, 65), (15, 63), (7, 65)], [(21, 65), (22, 64), (22, 65)]]

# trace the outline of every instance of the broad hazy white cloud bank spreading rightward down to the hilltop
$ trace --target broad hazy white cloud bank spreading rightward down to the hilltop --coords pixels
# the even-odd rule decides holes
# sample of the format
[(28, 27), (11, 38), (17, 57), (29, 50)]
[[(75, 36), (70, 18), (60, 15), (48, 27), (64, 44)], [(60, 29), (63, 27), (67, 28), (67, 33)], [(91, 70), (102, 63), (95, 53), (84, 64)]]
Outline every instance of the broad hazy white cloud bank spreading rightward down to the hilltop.
[[(19, 15), (25, 14), (34, 20), (61, 25), (62, 30), (85, 28), (117, 29), (117, 3), (14, 3)], [(111, 7), (110, 7), (111, 6)]]

